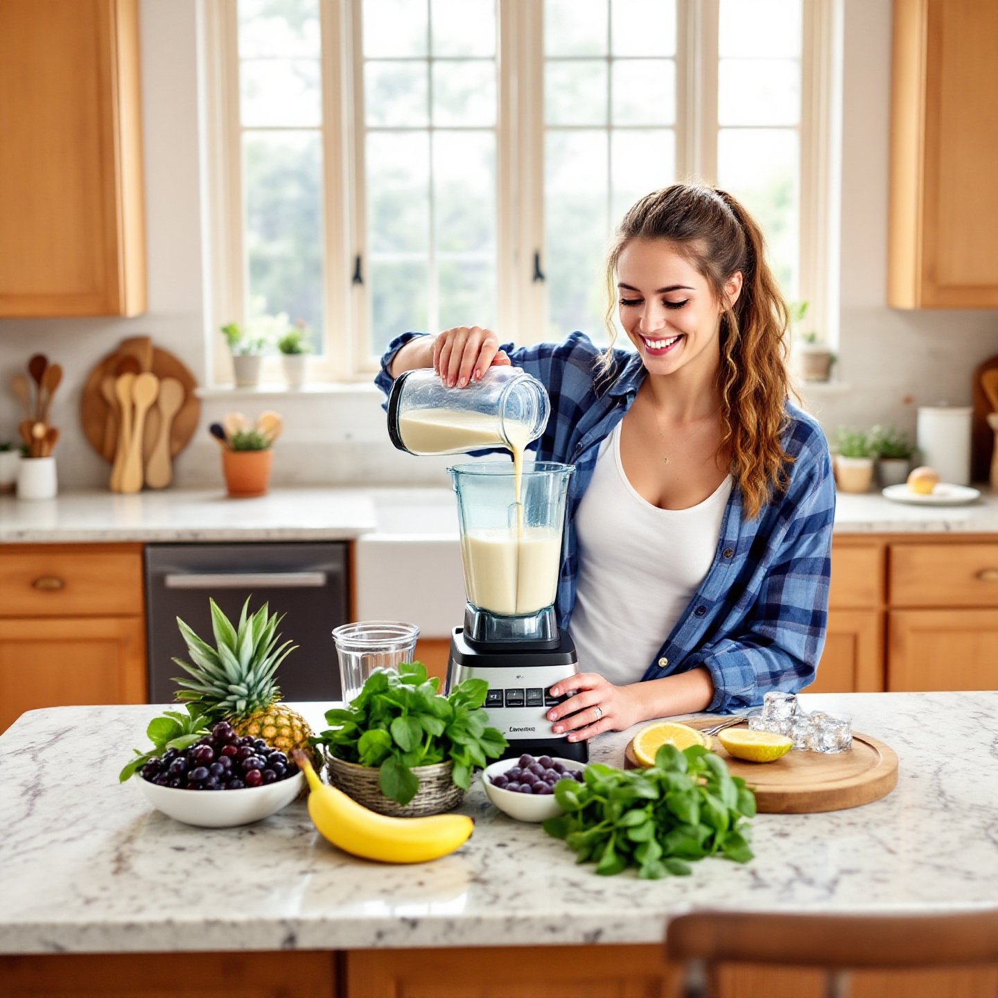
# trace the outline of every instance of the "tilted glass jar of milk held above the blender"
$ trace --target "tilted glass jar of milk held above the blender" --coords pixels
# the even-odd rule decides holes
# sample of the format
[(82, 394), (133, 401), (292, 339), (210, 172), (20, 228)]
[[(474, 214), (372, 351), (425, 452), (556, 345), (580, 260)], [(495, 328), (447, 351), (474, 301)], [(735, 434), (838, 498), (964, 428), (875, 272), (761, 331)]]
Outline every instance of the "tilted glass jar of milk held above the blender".
[(431, 367), (403, 371), (388, 396), (388, 435), (410, 454), (522, 450), (551, 412), (548, 393), (519, 367), (490, 367), (466, 388), (448, 388)]

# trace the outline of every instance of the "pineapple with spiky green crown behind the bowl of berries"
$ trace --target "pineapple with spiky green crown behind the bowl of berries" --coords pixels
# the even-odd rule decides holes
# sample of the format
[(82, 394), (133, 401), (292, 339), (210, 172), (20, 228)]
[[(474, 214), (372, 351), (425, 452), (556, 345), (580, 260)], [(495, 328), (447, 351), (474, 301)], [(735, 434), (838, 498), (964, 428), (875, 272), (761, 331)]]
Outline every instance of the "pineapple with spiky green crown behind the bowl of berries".
[(294, 749), (310, 753), (311, 730), (299, 714), (280, 703), (273, 678), (277, 666), (297, 647), (289, 641), (274, 647), (280, 637), (274, 631), (283, 615), (268, 617), (264, 603), (250, 616), (248, 598), (234, 628), (215, 600), (209, 602), (215, 648), (177, 618), (192, 659), (174, 659), (190, 677), (177, 679), (184, 688), (177, 699), (196, 705), (213, 721), (228, 721), (237, 735), (262, 739), (288, 756)]

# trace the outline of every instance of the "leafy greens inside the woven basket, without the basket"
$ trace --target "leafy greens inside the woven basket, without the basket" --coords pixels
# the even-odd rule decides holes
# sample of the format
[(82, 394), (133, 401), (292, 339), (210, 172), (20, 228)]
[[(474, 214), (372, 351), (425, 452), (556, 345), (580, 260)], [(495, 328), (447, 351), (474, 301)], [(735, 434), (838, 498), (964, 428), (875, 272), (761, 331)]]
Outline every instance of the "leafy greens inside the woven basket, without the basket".
[(465, 680), (447, 697), (437, 693), (439, 685), (421, 662), (375, 670), (349, 707), (326, 711), (330, 729), (313, 742), (343, 761), (378, 766), (381, 792), (403, 805), (419, 790), (417, 765), (449, 759), (452, 779), (467, 789), (473, 767), (487, 765), (509, 743), (488, 727), (485, 680)]

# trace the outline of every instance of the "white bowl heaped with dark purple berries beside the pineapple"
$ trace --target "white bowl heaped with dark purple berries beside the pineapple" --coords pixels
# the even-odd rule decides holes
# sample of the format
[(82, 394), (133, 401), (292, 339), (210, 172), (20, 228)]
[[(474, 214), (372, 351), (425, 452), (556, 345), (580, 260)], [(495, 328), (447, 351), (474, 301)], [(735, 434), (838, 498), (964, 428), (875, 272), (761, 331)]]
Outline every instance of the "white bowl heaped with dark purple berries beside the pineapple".
[(282, 751), (262, 739), (238, 736), (226, 722), (189, 749), (167, 749), (151, 758), (136, 775), (157, 810), (203, 828), (259, 821), (289, 804), (304, 786), (304, 773)]

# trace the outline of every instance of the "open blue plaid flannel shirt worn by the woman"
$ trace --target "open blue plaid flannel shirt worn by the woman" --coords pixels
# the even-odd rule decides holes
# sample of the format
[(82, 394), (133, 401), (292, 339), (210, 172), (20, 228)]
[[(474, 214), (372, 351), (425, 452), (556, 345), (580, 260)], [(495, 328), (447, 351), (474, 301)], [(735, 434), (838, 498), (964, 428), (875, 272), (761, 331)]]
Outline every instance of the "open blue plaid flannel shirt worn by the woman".
[[(406, 332), (389, 344), (375, 378), (385, 393), (392, 358), (417, 335)], [(592, 481), (600, 441), (624, 418), (645, 367), (636, 353), (615, 350), (614, 366), (597, 390), (600, 350), (581, 332), (561, 343), (506, 343), (502, 349), (542, 381), (551, 398), (547, 428), (532, 445), (537, 459), (576, 467), (556, 604), (559, 626), (567, 628), (578, 575), (575, 513)], [(712, 712), (758, 705), (769, 690), (799, 691), (813, 682), (824, 646), (835, 511), (831, 460), (815, 420), (789, 402), (786, 410), (783, 446), (794, 462), (785, 493), (749, 520), (740, 490), (732, 489), (714, 564), (644, 676), (655, 680), (706, 666), (714, 680)]]

